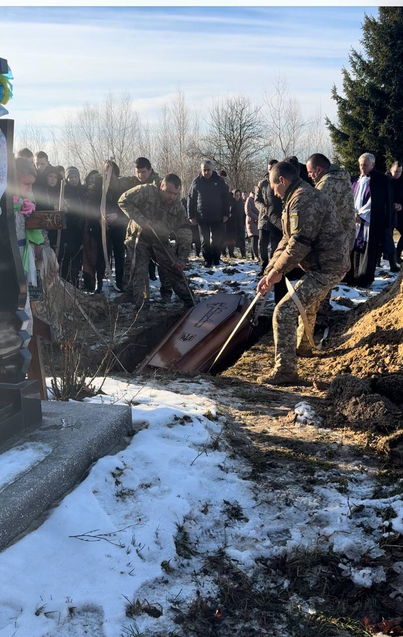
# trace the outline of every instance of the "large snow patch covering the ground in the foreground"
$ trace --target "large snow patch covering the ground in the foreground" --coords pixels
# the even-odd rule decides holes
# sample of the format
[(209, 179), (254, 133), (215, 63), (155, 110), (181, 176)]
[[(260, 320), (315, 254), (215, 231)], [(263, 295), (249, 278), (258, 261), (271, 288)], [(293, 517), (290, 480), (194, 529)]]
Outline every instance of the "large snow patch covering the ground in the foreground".
[[(311, 492), (281, 469), (276, 486), (262, 491), (229, 449), (226, 419), (203, 397), (208, 385), (182, 382), (182, 392), (172, 392), (108, 378), (106, 395), (86, 399), (129, 402), (133, 424), (144, 429), (96, 462), (41, 527), (0, 554), (0, 637), (119, 637), (137, 634), (135, 624), (167, 634), (175, 628), (172, 600), (190, 601), (200, 586), (214, 595), (200, 567), (220, 548), (249, 574), (262, 556), (332, 548), (353, 582), (383, 580), (381, 567), (362, 568), (359, 559), (381, 555), (379, 538), (400, 530), (401, 498), (371, 499), (374, 476), (360, 463), (338, 466), (334, 483), (317, 470)], [(300, 407), (305, 420), (314, 419), (309, 404)], [(301, 424), (294, 427), (297, 436)], [(341, 475), (346, 492), (338, 488)], [(387, 529), (386, 506), (398, 514)], [(134, 623), (126, 598), (161, 605), (163, 614), (142, 613)]]

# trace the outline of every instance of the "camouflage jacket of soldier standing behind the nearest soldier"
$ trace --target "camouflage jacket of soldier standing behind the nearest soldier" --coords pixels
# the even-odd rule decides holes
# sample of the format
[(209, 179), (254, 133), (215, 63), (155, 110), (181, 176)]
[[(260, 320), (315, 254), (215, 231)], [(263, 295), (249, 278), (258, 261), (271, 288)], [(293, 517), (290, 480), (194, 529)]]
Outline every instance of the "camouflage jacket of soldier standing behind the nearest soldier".
[(346, 168), (331, 164), (314, 181), (315, 188), (327, 194), (336, 206), (348, 249), (352, 250), (355, 241), (355, 208), (350, 173)]

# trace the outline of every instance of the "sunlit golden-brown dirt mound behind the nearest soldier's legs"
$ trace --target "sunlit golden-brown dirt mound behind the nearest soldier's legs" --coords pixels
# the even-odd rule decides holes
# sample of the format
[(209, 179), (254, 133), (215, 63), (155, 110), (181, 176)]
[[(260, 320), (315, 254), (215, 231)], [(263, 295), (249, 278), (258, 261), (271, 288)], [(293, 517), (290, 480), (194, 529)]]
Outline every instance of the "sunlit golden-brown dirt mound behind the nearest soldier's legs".
[[(390, 390), (379, 390), (386, 397), (398, 391), (402, 396), (403, 369), (403, 273), (387, 289), (348, 312), (333, 311), (332, 325), (324, 352), (297, 361), (304, 382), (330, 382), (338, 374), (359, 378), (394, 374)], [(247, 379), (273, 369), (273, 336), (268, 333), (243, 354), (224, 376)], [(379, 381), (380, 382), (380, 381)], [(378, 389), (374, 388), (376, 392)], [(399, 403), (402, 400), (399, 401)]]

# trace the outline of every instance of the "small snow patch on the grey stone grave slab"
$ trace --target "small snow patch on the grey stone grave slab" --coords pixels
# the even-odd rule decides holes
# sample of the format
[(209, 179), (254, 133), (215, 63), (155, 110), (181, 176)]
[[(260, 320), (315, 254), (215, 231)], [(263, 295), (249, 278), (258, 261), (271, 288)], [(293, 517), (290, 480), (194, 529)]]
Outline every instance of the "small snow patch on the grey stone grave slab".
[(24, 443), (0, 454), (0, 491), (6, 489), (20, 473), (29, 471), (41, 462), (50, 452), (49, 445)]

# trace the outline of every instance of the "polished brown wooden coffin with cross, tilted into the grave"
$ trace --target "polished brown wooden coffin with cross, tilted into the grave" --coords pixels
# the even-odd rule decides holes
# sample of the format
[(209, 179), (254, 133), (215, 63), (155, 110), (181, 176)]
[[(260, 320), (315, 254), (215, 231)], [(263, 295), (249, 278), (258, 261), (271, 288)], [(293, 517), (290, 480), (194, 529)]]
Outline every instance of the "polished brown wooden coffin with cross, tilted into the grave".
[[(201, 301), (179, 319), (136, 371), (149, 366), (207, 372), (249, 305), (242, 294), (226, 292), (219, 292)], [(222, 366), (234, 349), (247, 341), (251, 331), (249, 315), (223, 352), (222, 358), (217, 361), (217, 366)]]

